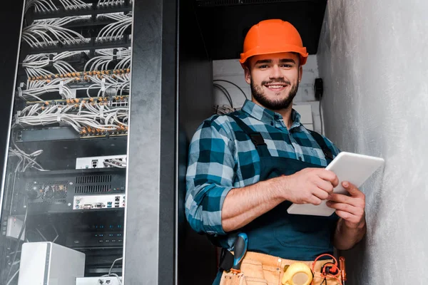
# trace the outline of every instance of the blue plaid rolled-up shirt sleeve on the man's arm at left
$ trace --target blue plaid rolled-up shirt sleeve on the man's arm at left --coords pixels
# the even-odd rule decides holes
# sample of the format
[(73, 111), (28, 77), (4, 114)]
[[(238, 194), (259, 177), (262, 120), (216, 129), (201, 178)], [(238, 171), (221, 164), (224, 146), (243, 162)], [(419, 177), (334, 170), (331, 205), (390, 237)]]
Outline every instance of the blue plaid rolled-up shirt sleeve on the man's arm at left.
[(233, 189), (235, 159), (225, 118), (213, 116), (198, 128), (189, 147), (185, 216), (198, 233), (225, 234), (221, 209)]

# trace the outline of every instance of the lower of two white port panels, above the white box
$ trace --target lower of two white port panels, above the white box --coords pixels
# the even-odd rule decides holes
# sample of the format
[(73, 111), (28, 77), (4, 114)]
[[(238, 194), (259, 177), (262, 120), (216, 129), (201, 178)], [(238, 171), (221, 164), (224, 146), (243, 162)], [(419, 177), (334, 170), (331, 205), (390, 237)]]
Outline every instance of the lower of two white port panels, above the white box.
[(124, 208), (125, 194), (118, 195), (76, 195), (73, 210)]

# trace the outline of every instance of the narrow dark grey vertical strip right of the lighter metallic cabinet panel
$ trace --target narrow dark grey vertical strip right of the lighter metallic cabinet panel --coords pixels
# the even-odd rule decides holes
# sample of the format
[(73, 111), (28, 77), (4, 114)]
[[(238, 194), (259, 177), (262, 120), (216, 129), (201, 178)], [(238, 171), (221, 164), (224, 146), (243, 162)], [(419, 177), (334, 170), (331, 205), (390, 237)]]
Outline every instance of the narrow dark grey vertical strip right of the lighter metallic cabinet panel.
[(175, 284), (175, 125), (177, 122), (177, 1), (163, 1), (161, 180), (158, 284)]

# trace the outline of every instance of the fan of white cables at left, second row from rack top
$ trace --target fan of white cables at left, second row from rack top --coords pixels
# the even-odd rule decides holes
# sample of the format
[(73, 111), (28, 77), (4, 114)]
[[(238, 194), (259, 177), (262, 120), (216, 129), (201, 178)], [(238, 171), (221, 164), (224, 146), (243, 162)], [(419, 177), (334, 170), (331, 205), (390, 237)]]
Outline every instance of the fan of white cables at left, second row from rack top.
[(88, 39), (80, 33), (63, 28), (63, 25), (79, 19), (86, 19), (81, 16), (64, 17), (61, 19), (49, 19), (35, 21), (22, 31), (22, 38), (31, 48), (43, 48), (46, 46), (62, 43), (63, 45), (87, 43)]

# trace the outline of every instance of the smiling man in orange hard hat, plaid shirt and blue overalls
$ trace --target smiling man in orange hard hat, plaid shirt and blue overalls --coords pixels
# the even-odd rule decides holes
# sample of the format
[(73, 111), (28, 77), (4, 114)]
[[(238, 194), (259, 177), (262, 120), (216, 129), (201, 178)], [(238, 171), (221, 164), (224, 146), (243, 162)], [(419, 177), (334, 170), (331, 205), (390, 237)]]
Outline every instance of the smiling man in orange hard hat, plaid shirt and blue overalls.
[[(306, 60), (290, 23), (266, 20), (250, 28), (240, 63), (252, 100), (240, 111), (205, 120), (190, 143), (190, 226), (225, 250), (233, 250), (239, 233), (248, 236), (243, 275), (229, 272), (223, 262), (213, 284), (245, 279), (248, 285), (279, 285), (285, 266), (312, 266), (320, 255), (332, 254), (334, 247), (350, 249), (365, 235), (365, 195), (349, 182), (343, 184), (349, 196), (333, 193), (337, 177), (325, 170), (340, 150), (307, 130), (292, 109)], [(331, 217), (287, 214), (292, 203), (326, 199), (336, 209)], [(332, 260), (322, 259), (313, 263), (313, 284), (341, 284)], [(329, 266), (331, 274), (322, 275)]]

